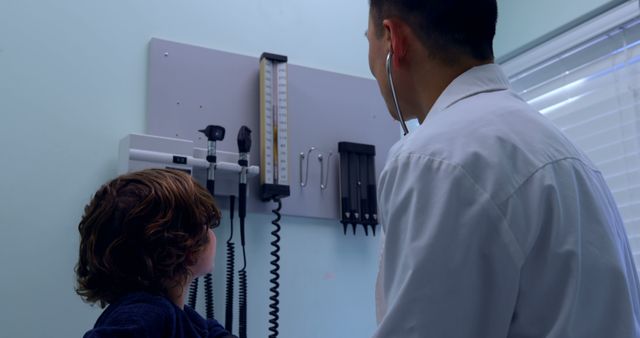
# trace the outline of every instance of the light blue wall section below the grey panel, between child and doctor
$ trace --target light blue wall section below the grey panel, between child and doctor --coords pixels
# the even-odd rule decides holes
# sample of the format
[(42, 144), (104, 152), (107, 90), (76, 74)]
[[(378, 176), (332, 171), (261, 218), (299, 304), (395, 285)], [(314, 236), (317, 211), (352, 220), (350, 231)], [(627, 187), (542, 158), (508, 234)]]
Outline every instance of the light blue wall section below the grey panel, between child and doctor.
[[(286, 203), (286, 200), (284, 201)], [(237, 214), (236, 214), (237, 215)], [(247, 224), (249, 264), (249, 337), (266, 337), (271, 266), (270, 232), (273, 215), (251, 215)], [(236, 243), (239, 241), (236, 232)], [(281, 251), (280, 337), (370, 337), (375, 329), (374, 282), (377, 273), (377, 240), (359, 235), (344, 236), (332, 221), (290, 218), (284, 222)], [(228, 222), (221, 225), (215, 273), (224, 275)], [(241, 265), (236, 245), (236, 267)], [(224, 290), (222, 278), (216, 290)], [(202, 286), (200, 287), (202, 289)], [(237, 285), (236, 285), (237, 290)], [(200, 298), (202, 300), (203, 298)], [(200, 304), (202, 307), (202, 304)], [(204, 308), (200, 309), (204, 313)], [(237, 311), (237, 310), (236, 310)], [(222, 295), (216, 313), (224, 313)], [(221, 318), (224, 316), (220, 316)], [(237, 313), (234, 316), (237, 328)], [(236, 331), (237, 332), (237, 331)]]

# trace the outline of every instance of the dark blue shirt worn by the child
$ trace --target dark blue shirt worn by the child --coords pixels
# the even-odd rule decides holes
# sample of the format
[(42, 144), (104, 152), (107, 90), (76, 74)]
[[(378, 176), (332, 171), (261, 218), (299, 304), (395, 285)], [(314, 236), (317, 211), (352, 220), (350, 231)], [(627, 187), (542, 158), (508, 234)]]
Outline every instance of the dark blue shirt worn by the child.
[(84, 338), (233, 338), (216, 320), (169, 299), (132, 293), (109, 305)]

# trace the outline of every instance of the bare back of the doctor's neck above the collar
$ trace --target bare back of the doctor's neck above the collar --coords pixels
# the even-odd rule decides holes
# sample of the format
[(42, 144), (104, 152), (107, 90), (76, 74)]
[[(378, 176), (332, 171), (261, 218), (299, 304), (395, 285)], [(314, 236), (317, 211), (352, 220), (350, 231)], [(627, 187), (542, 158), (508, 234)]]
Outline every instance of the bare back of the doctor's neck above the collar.
[[(407, 76), (414, 91), (414, 106), (409, 105), (415, 117), (422, 124), (438, 98), (460, 75), (471, 68), (493, 63), (493, 60), (477, 60), (460, 54), (455, 61), (445, 61), (430, 56), (426, 50), (407, 55), (409, 69)], [(411, 89), (409, 89), (411, 94)]]

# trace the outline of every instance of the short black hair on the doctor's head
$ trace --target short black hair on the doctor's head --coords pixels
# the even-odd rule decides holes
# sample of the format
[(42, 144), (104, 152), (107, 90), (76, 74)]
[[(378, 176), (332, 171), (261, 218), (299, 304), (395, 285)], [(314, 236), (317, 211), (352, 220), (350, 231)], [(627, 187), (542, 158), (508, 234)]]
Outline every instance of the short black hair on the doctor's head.
[(456, 63), (461, 53), (479, 61), (494, 58), (496, 0), (369, 0), (369, 5), (378, 38), (382, 21), (397, 17), (445, 63)]

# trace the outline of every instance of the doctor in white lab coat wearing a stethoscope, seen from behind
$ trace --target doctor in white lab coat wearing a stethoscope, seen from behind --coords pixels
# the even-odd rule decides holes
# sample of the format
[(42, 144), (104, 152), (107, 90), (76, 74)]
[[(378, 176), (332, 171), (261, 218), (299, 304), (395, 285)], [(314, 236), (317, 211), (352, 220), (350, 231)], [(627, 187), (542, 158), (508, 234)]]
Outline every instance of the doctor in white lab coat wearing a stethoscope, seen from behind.
[(612, 194), (509, 88), (496, 18), (495, 0), (370, 0), (371, 71), (421, 124), (379, 181), (375, 337), (640, 337)]

